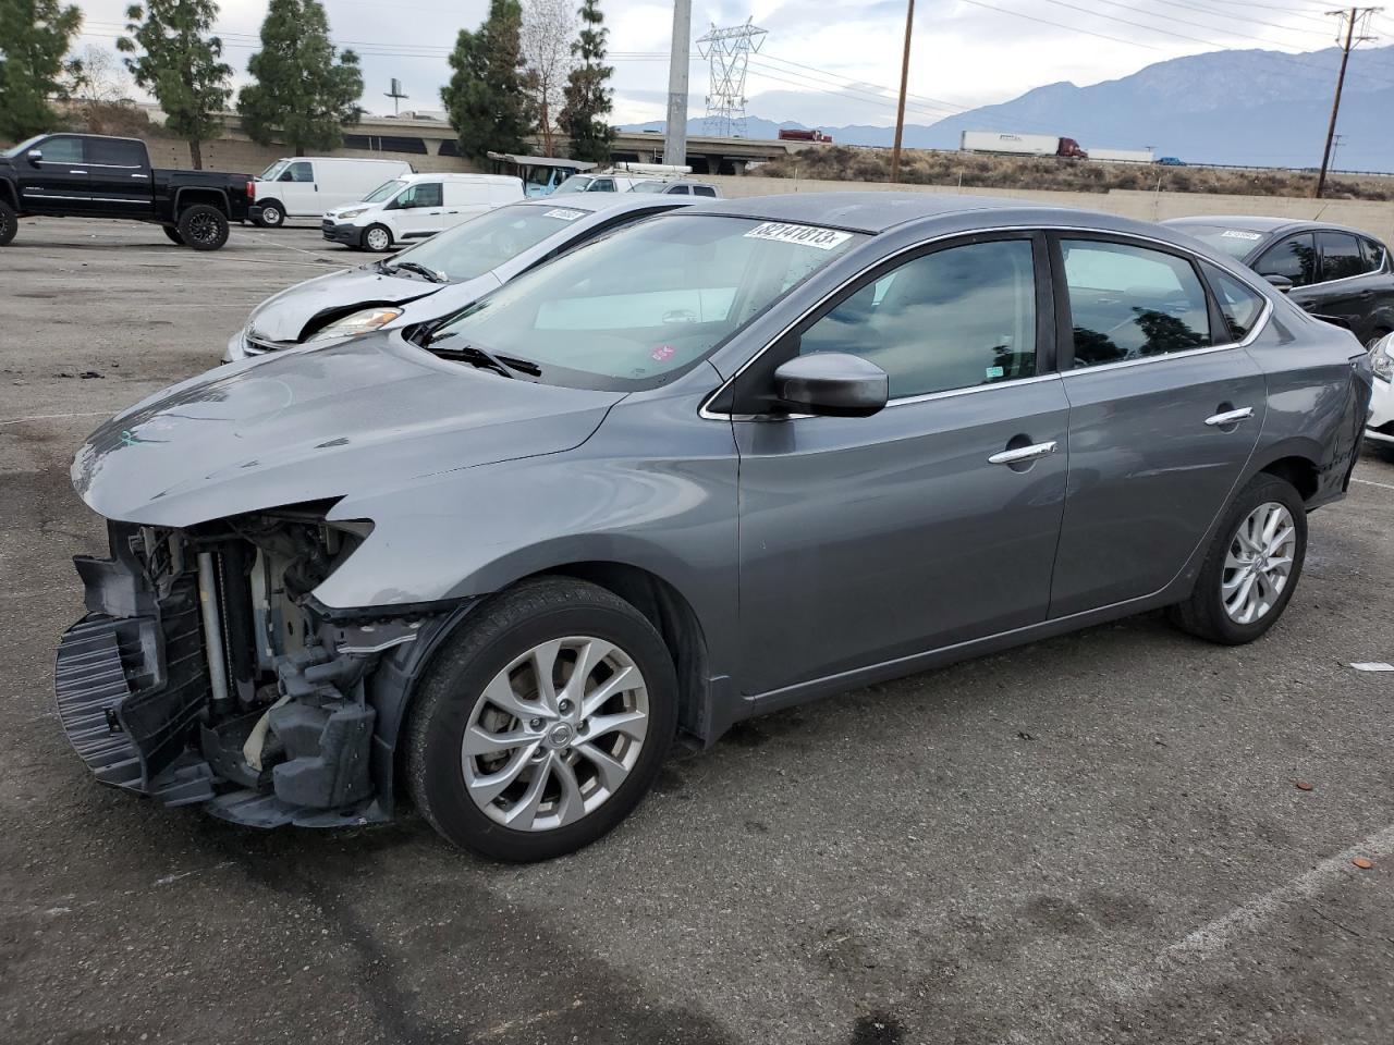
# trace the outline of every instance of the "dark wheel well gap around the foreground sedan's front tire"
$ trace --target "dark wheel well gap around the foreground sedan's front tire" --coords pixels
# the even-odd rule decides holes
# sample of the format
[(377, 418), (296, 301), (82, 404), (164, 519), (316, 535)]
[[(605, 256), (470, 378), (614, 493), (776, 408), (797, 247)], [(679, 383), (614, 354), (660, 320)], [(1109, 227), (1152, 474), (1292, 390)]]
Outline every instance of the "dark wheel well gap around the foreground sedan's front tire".
[(707, 640), (697, 613), (673, 585), (657, 574), (626, 563), (569, 563), (533, 575), (590, 581), (643, 613), (662, 635), (664, 645), (673, 656), (673, 667), (677, 672), (677, 725), (686, 733), (703, 736), (708, 677)]

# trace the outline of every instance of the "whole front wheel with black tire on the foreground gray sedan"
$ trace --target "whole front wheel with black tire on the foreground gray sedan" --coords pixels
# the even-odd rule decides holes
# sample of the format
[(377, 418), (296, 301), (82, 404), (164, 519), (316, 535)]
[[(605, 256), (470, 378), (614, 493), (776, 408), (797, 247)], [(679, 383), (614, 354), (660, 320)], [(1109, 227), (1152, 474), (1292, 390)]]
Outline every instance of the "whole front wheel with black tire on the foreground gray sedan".
[[(567, 713), (576, 692), (562, 680), (587, 651), (599, 652), (592, 640), (612, 645), (587, 670), (587, 695), (616, 674), (638, 684), (597, 708), (581, 699)], [(549, 645), (556, 642), (559, 653)], [(552, 704), (538, 692), (538, 659), (552, 665)], [(591, 732), (602, 722), (608, 729)], [(481, 605), (436, 655), (406, 729), (407, 787), (447, 842), (493, 860), (549, 860), (588, 846), (629, 815), (658, 776), (676, 722), (672, 656), (638, 610), (585, 581), (524, 581)], [(489, 776), (509, 783), (498, 783), (500, 791), (482, 784), (489, 793), (477, 800), (470, 779), (480, 789)]]

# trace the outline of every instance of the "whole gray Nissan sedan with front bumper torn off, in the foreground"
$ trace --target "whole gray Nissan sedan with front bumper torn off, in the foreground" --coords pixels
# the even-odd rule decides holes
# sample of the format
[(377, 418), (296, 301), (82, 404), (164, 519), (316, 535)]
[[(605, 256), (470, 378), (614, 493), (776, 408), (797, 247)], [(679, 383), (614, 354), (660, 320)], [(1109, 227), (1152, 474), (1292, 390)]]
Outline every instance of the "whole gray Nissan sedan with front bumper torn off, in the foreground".
[(1193, 240), (948, 195), (730, 201), (445, 325), (233, 364), (72, 481), (59, 648), (105, 783), (538, 860), (675, 736), (1167, 607), (1249, 642), (1344, 496), (1370, 364)]

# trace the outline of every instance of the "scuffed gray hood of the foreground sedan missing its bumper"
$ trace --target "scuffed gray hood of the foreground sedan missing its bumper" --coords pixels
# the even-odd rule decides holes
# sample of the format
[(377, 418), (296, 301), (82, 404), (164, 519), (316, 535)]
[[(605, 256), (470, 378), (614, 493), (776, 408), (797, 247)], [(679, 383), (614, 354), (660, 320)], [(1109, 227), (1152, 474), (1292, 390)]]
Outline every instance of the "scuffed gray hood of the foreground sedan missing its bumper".
[(156, 393), (92, 433), (72, 485), (107, 518), (188, 527), (570, 450), (623, 397), (509, 379), (372, 334)]

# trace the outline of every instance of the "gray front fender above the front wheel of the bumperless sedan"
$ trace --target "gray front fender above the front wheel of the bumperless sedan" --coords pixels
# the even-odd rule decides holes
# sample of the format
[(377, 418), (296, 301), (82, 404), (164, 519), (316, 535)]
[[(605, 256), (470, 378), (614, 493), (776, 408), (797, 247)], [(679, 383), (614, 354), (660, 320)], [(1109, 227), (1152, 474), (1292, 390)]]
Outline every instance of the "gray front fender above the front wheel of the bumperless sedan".
[(694, 397), (629, 398), (584, 444), (340, 500), (372, 534), (319, 588), (330, 612), (443, 603), (577, 563), (618, 563), (675, 588), (729, 667), (737, 599), (737, 456)]

